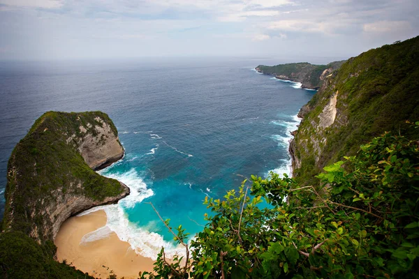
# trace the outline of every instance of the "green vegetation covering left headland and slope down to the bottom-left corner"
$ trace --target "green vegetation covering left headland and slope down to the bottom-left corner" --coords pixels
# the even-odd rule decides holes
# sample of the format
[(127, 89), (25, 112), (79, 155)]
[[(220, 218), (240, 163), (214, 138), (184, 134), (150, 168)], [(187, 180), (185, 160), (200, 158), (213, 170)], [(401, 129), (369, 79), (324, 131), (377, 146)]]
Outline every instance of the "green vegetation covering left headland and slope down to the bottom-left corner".
[(54, 261), (52, 231), (61, 214), (57, 207), (68, 200), (82, 197), (91, 206), (124, 190), (119, 181), (94, 172), (78, 151), (82, 137), (97, 135), (95, 126), (103, 125), (98, 117), (117, 135), (103, 112), (46, 112), (15, 146), (8, 162), (0, 278), (91, 278)]

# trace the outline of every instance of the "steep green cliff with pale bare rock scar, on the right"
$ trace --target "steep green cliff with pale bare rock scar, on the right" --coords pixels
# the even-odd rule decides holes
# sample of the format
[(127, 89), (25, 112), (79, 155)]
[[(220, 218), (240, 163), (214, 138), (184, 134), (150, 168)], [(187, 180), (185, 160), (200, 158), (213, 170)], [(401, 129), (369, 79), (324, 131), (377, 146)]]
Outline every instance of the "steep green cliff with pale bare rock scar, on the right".
[(385, 131), (419, 134), (406, 130), (406, 120), (419, 119), (418, 88), (419, 37), (348, 59), (300, 110), (290, 145), (294, 175), (309, 183)]

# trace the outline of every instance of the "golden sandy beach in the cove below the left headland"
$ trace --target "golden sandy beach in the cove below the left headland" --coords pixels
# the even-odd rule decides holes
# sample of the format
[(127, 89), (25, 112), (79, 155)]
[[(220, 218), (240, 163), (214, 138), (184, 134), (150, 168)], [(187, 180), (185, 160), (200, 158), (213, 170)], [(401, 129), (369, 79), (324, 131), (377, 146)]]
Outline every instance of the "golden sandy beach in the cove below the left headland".
[(66, 220), (54, 241), (59, 262), (66, 259), (68, 264), (96, 278), (106, 278), (112, 270), (118, 278), (126, 279), (138, 278), (138, 271), (152, 271), (154, 261), (136, 254), (115, 232), (104, 239), (80, 243), (85, 234), (105, 224), (103, 210)]

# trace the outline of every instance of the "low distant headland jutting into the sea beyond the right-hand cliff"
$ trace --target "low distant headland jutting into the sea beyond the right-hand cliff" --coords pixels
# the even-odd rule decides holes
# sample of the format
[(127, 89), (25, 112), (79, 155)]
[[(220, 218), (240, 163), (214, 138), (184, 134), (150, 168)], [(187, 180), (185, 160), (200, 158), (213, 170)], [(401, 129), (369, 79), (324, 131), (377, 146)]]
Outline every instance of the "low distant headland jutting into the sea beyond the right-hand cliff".
[(256, 70), (266, 75), (274, 75), (279, 80), (301, 82), (302, 88), (319, 89), (324, 81), (332, 75), (345, 61), (335, 61), (328, 65), (310, 63), (288, 63), (277, 66), (259, 65)]

